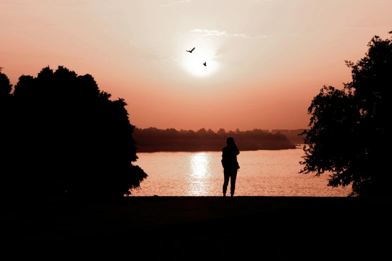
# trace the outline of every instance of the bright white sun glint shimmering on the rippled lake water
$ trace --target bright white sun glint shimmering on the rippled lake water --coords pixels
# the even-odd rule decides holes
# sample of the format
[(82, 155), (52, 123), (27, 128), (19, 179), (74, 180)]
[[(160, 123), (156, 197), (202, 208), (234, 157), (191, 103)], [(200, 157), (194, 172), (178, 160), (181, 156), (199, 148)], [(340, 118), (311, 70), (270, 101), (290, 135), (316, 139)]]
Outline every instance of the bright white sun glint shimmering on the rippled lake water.
[(188, 158), (187, 187), (188, 195), (207, 195), (211, 190), (211, 154), (195, 153)]

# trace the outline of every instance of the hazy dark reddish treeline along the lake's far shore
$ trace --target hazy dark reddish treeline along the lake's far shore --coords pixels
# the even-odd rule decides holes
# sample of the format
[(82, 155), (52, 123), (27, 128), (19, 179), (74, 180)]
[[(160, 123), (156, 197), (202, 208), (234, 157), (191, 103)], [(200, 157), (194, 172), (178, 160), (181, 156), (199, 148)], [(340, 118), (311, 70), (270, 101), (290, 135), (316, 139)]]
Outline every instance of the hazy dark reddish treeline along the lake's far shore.
[(135, 128), (133, 132), (139, 152), (155, 151), (220, 151), (226, 145), (226, 138), (235, 139), (240, 150), (289, 149), (295, 148), (287, 137), (281, 133), (267, 133), (261, 129), (240, 131), (220, 128), (217, 132), (201, 128), (194, 130), (177, 130), (175, 128), (159, 129), (156, 127)]

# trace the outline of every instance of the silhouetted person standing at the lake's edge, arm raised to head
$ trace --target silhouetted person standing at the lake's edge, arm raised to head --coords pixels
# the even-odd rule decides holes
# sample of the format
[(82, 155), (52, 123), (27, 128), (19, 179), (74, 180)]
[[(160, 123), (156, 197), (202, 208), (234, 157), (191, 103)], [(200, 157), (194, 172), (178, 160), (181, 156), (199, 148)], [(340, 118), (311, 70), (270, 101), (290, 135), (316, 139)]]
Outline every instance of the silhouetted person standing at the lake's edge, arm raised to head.
[(237, 178), (237, 170), (239, 168), (237, 155), (239, 150), (234, 142), (234, 138), (228, 137), (226, 140), (227, 146), (222, 148), (222, 166), (224, 173), (223, 182), (223, 196), (226, 196), (227, 185), (230, 179), (230, 194), (234, 195), (235, 179)]

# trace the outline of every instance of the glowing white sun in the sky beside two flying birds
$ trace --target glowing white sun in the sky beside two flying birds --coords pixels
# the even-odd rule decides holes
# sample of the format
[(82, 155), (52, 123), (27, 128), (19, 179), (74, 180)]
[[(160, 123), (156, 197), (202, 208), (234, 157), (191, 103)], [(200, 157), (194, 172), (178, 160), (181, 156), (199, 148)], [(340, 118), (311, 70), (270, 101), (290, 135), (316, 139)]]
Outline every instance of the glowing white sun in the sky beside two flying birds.
[[(214, 54), (215, 51), (211, 47), (196, 46), (192, 53), (184, 50), (182, 67), (194, 76), (211, 76), (219, 67), (218, 62), (214, 60)], [(206, 66), (203, 65), (204, 62)]]

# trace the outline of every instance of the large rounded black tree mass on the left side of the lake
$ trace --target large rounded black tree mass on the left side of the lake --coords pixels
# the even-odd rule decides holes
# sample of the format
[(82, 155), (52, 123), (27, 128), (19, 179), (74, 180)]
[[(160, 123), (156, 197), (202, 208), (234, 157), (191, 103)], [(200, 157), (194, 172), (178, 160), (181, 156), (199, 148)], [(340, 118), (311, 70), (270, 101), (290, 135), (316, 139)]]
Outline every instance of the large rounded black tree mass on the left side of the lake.
[(48, 66), (20, 76), (13, 93), (6, 79), (0, 74), (3, 192), (123, 196), (147, 177), (132, 164), (127, 103), (111, 100), (92, 75)]

